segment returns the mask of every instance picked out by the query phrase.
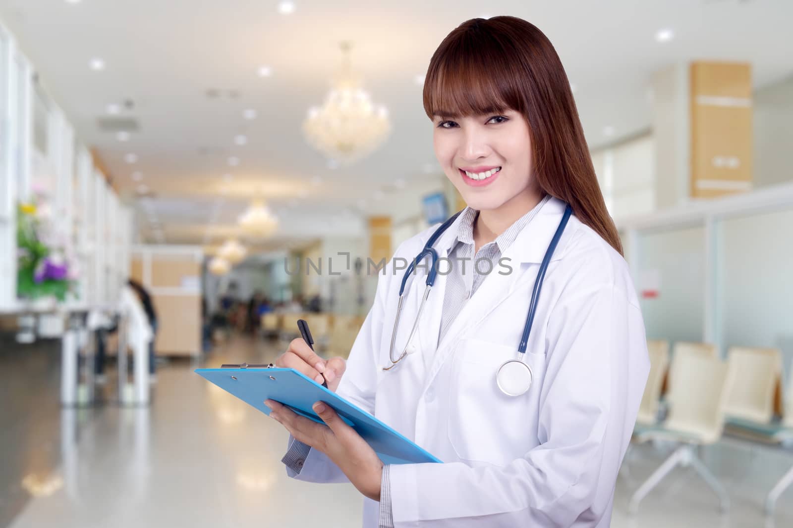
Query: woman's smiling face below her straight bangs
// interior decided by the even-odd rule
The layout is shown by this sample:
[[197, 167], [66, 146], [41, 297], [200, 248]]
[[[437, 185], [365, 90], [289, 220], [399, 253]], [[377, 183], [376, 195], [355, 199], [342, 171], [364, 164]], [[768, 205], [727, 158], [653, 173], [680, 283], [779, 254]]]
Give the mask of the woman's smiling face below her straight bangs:
[[469, 207], [497, 209], [530, 189], [531, 138], [519, 112], [435, 116], [432, 124], [435, 157]]

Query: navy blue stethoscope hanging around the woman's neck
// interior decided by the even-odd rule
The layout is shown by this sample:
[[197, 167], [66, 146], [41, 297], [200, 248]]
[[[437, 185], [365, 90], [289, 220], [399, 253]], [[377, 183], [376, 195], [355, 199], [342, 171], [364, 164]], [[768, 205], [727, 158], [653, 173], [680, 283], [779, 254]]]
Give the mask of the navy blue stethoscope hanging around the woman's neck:
[[[412, 344], [413, 336], [419, 326], [421, 313], [424, 310], [427, 297], [429, 297], [430, 290], [435, 284], [435, 275], [438, 274], [438, 252], [436, 252], [435, 249], [432, 249], [432, 246], [435, 245], [435, 241], [437, 241], [443, 232], [448, 229], [448, 227], [452, 224], [452, 222], [454, 222], [454, 219], [457, 218], [460, 213], [462, 213], [462, 211], [455, 213], [454, 216], [446, 220], [446, 222], [443, 222], [442, 225], [437, 230], [435, 230], [435, 233], [433, 233], [429, 240], [427, 240], [427, 243], [424, 245], [421, 253], [419, 253], [416, 258], [413, 259], [404, 272], [402, 284], [399, 289], [397, 318], [394, 321], [394, 329], [391, 333], [391, 345], [389, 347], [389, 359], [391, 360], [392, 364], [390, 367], [381, 367], [383, 370], [393, 369], [393, 367], [395, 367], [397, 363], [404, 359], [406, 355], [416, 352], [416, 347]], [[526, 317], [526, 324], [523, 326], [523, 336], [520, 338], [520, 344], [518, 344], [518, 357], [516, 359], [508, 359], [508, 361], [502, 363], [496, 372], [496, 385], [501, 390], [501, 392], [507, 396], [520, 396], [531, 388], [533, 374], [531, 372], [531, 367], [529, 367], [529, 365], [523, 361], [523, 358], [526, 357], [527, 343], [529, 341], [529, 334], [531, 333], [531, 325], [534, 322], [534, 313], [537, 311], [537, 303], [540, 297], [540, 290], [542, 289], [542, 281], [545, 279], [545, 274], [546, 270], [548, 269], [550, 259], [552, 256], [554, 256], [554, 250], [559, 243], [561, 235], [565, 232], [565, 226], [567, 226], [567, 222], [570, 219], [570, 215], [572, 213], [573, 209], [568, 204], [565, 207], [565, 214], [561, 217], [561, 222], [559, 222], [559, 226], [556, 229], [554, 238], [551, 239], [548, 249], [546, 249], [545, 256], [542, 257], [542, 264], [540, 264], [540, 268], [537, 272], [537, 278], [534, 279], [534, 289], [531, 291], [531, 302], [529, 303], [529, 313]], [[399, 327], [399, 319], [402, 313], [402, 304], [404, 302], [404, 285], [408, 282], [408, 276], [410, 276], [410, 274], [413, 272], [413, 269], [416, 268], [416, 264], [421, 262], [425, 256], [430, 257], [432, 264], [430, 271], [427, 273], [427, 287], [424, 288], [424, 295], [421, 299], [421, 304], [419, 305], [419, 312], [416, 313], [416, 320], [413, 321], [413, 328], [411, 329], [410, 335], [408, 336], [408, 342], [405, 344], [402, 354], [397, 359], [394, 359], [394, 342], [397, 340], [397, 328]]]

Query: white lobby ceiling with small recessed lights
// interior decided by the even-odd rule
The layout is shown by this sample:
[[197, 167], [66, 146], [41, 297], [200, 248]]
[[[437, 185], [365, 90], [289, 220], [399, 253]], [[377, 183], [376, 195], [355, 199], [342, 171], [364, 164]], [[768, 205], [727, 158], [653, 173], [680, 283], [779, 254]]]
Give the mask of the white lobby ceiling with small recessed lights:
[[[388, 214], [408, 203], [417, 211], [417, 196], [437, 188], [442, 175], [414, 78], [443, 37], [471, 17], [510, 14], [546, 32], [575, 86], [592, 149], [650, 126], [648, 79], [661, 67], [747, 61], [756, 87], [793, 71], [787, 0], [295, 4], [294, 13], [282, 15], [273, 0], [0, 0], [0, 17], [79, 137], [98, 148], [117, 186], [133, 192], [132, 172], [144, 174], [169, 242], [220, 241], [247, 201], [262, 193], [282, 217], [279, 240], [324, 229], [354, 233], [360, 222], [343, 216], [344, 208]], [[674, 39], [657, 43], [660, 28], [671, 28]], [[301, 123], [328, 90], [340, 40], [354, 42], [352, 65], [374, 102], [389, 108], [393, 131], [369, 158], [333, 170], [306, 144]], [[105, 70], [89, 69], [93, 57], [105, 60]], [[272, 75], [259, 78], [260, 65]], [[207, 97], [208, 89], [221, 96]], [[135, 107], [125, 115], [140, 130], [119, 142], [97, 120], [106, 117], [107, 104], [127, 98]], [[243, 120], [244, 108], [259, 117]], [[607, 126], [613, 135], [604, 134]], [[243, 133], [247, 145], [236, 146], [233, 138]], [[133, 165], [124, 161], [128, 152], [138, 155]], [[239, 166], [228, 166], [232, 155]], [[232, 174], [230, 182], [224, 173]], [[316, 176], [321, 183], [312, 181]], [[407, 189], [395, 196], [397, 178]], [[374, 198], [378, 190], [384, 199]]]

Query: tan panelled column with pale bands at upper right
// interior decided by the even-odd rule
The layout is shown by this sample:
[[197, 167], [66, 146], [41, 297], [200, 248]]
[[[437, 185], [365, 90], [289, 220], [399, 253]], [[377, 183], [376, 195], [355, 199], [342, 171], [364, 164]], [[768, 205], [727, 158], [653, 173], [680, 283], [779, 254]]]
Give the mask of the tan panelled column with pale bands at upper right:
[[752, 188], [752, 73], [745, 63], [691, 63], [691, 196]]

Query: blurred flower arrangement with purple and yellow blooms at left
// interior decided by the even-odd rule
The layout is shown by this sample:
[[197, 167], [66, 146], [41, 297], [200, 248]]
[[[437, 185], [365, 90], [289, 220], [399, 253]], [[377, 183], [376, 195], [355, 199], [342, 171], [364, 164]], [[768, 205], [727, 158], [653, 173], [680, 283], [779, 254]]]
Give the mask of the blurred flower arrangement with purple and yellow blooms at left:
[[63, 302], [75, 285], [76, 266], [63, 247], [57, 247], [48, 226], [46, 206], [21, 203], [17, 207], [17, 296], [54, 297]]

